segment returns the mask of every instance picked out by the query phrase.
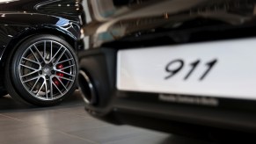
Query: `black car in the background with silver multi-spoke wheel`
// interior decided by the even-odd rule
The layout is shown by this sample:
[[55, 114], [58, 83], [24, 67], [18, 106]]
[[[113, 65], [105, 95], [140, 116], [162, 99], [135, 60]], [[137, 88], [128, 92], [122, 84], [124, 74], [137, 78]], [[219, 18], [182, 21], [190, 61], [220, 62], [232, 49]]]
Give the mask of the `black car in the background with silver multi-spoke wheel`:
[[77, 88], [80, 10], [76, 0], [0, 2], [2, 96], [50, 106]]

